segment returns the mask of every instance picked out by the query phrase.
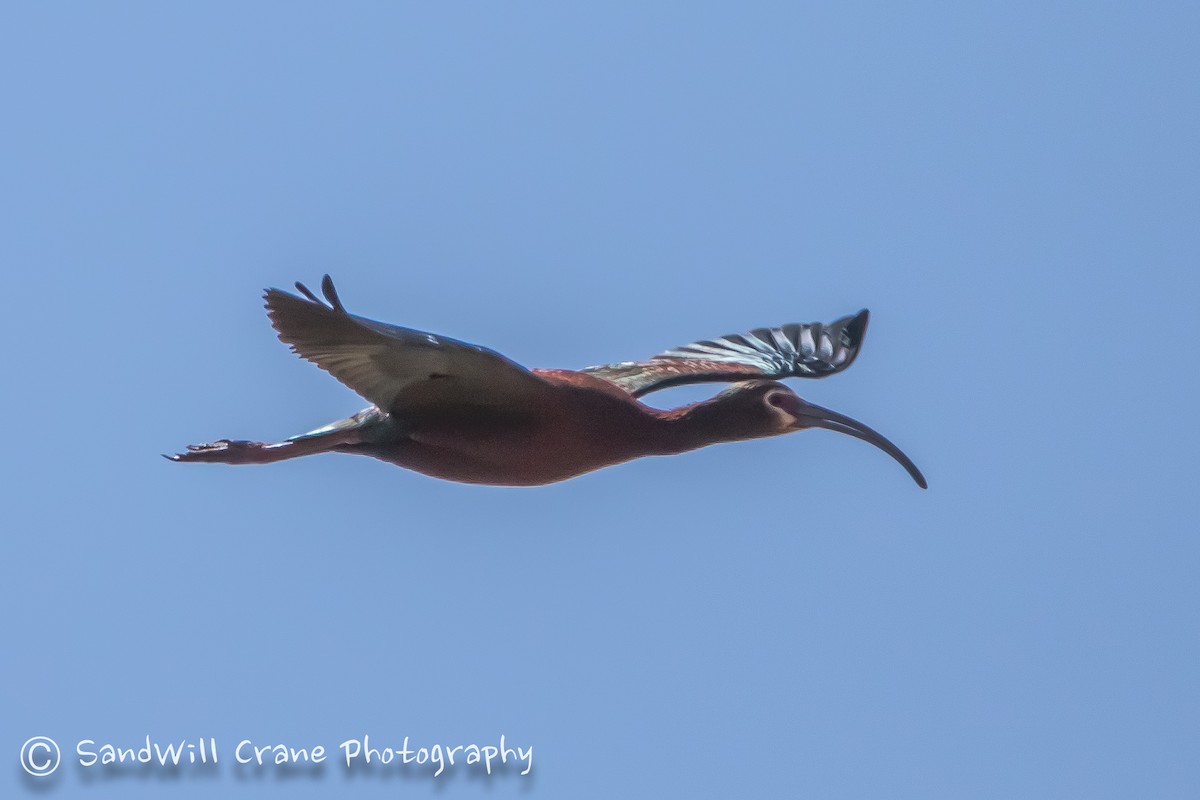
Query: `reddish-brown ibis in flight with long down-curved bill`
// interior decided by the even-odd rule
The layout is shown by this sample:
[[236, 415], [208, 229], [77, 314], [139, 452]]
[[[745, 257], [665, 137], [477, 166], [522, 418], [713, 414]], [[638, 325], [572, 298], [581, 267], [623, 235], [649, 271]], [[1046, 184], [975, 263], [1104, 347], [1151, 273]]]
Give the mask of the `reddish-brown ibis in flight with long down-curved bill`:
[[[647, 361], [527, 369], [482, 347], [350, 314], [328, 275], [324, 301], [302, 283], [295, 287], [301, 296], [278, 289], [264, 295], [280, 341], [371, 405], [284, 441], [220, 439], [167, 458], [265, 464], [344, 452], [451, 481], [540, 486], [642, 456], [826, 428], [871, 443], [926, 486], [917, 465], [883, 435], [779, 383], [848, 367], [866, 332], [865, 309], [828, 325], [696, 342]], [[703, 381], [732, 386], [671, 410], [638, 399]]]

